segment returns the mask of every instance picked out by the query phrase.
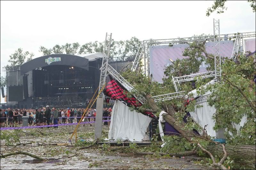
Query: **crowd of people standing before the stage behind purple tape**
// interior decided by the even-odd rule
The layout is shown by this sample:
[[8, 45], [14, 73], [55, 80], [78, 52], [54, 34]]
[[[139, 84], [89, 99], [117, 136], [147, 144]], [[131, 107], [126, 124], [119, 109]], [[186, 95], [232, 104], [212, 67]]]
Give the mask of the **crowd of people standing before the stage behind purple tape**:
[[[96, 113], [96, 108], [86, 110], [85, 108], [56, 109], [56, 107], [53, 107], [50, 109], [49, 106], [36, 109], [1, 109], [1, 127], [17, 127], [18, 125], [22, 125], [22, 116], [28, 116], [28, 126], [73, 123], [75, 119], [78, 123], [84, 114], [81, 122], [93, 122], [95, 121]], [[103, 120], [110, 120], [111, 113], [111, 107], [103, 108]], [[108, 125], [109, 127], [110, 122], [104, 122], [104, 125]], [[92, 126], [92, 124], [90, 124], [90, 126]], [[54, 127], [58, 128], [58, 126]]]

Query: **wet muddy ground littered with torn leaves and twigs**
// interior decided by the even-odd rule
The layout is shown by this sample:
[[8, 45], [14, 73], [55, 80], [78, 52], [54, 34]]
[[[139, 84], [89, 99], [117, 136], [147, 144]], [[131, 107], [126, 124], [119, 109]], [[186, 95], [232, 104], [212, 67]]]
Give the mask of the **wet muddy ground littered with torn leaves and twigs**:
[[[78, 150], [81, 146], [74, 146], [75, 137], [72, 138], [73, 146], [68, 143], [75, 127], [75, 125], [72, 125], [61, 126], [58, 129], [40, 129], [43, 134], [37, 132], [37, 128], [22, 130], [27, 134], [21, 132], [20, 142], [32, 142], [28, 145], [6, 146], [5, 140], [1, 140], [2, 154], [16, 152], [12, 150], [15, 149], [48, 159], [47, 161], [40, 161], [26, 155], [12, 155], [1, 158], [1, 169], [215, 169], [212, 166], [197, 164], [198, 159], [195, 157], [140, 156], [133, 153], [124, 153], [122, 149], [108, 152], [99, 145]], [[107, 137], [107, 134], [108, 127], [103, 127], [103, 137]], [[78, 140], [93, 141], [94, 125], [80, 125], [77, 130], [77, 137]], [[40, 146], [36, 142], [39, 142], [39, 144], [67, 143], [68, 145]], [[115, 148], [115, 146], [111, 148]]]

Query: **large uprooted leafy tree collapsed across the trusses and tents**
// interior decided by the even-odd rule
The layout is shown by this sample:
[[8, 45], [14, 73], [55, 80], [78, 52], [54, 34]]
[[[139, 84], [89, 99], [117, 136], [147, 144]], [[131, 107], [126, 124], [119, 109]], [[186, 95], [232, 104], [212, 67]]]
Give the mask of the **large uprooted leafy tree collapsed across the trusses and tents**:
[[[208, 102], [216, 108], [216, 113], [212, 117], [215, 121], [214, 130], [226, 129], [226, 144], [214, 142], [212, 137], [207, 135], [205, 127], [201, 127], [192, 117], [186, 117], [187, 123], [183, 121], [186, 112], [200, 107], [195, 106], [195, 100], [187, 103], [187, 99], [191, 99], [192, 96], [187, 96], [186, 99], [180, 98], [157, 103], [151, 98], [151, 96], [175, 92], [172, 75], [183, 76], [196, 73], [203, 61], [209, 64], [208, 71], [214, 70], [214, 55], [206, 52], [204, 44], [205, 42], [189, 43], [189, 47], [183, 52], [183, 56], [188, 57], [182, 60], [177, 59], [172, 65], [165, 68], [163, 84], [152, 81], [152, 76], [146, 76], [140, 69], [134, 72], [128, 70], [123, 73], [123, 76], [137, 90], [128, 95], [142, 95], [147, 100], [136, 109], [140, 112], [150, 111], [157, 116], [164, 110], [167, 113], [163, 115], [164, 120], [180, 133], [179, 137], [165, 140], [165, 149], [162, 148], [161, 151], [172, 152], [173, 148], [177, 149], [175, 144], [180, 145], [180, 140], [183, 138], [183, 146], [180, 147], [183, 148], [182, 151], [197, 150], [199, 155], [204, 154], [210, 157], [213, 166], [227, 169], [225, 166], [231, 165], [234, 160], [241, 159], [241, 155], [244, 159], [255, 159], [256, 109], [255, 83], [253, 81], [255, 55], [239, 54], [236, 63], [232, 59], [222, 57], [222, 76], [214, 84], [203, 86], [211, 79], [195, 78], [198, 94], [211, 92]], [[193, 90], [191, 82], [182, 83], [181, 90], [186, 92]], [[237, 132], [233, 125], [234, 123], [239, 124], [243, 116], [247, 118], [247, 121]], [[200, 135], [194, 133], [193, 129], [197, 130]], [[180, 144], [177, 143], [177, 140]], [[226, 161], [227, 158], [228, 161]]]

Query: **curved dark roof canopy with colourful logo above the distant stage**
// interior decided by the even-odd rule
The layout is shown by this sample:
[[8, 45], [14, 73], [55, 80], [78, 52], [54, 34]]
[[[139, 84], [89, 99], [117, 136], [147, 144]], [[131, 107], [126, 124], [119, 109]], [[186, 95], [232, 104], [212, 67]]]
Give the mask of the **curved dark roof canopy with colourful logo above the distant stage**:
[[[82, 57], [82, 56], [70, 55], [70, 54], [44, 55], [22, 64], [20, 66], [20, 75], [26, 74], [30, 70], [34, 70], [39, 67], [45, 67], [50, 65], [70, 65], [70, 66], [80, 67], [85, 70], [89, 70], [89, 61], [92, 60], [93, 56], [94, 55], [88, 55], [88, 56]], [[86, 57], [89, 57], [90, 60], [87, 59]], [[96, 55], [94, 56], [94, 58], [95, 57]], [[98, 57], [98, 58], [102, 58], [102, 57]]]

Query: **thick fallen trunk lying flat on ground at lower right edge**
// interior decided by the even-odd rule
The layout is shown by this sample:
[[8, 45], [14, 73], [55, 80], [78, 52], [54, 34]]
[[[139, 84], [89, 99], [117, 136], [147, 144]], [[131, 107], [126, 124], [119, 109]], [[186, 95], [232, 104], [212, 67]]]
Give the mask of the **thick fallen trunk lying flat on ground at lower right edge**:
[[[222, 147], [214, 145], [207, 148], [213, 156], [223, 156]], [[226, 145], [226, 151], [231, 159], [255, 159], [255, 145]]]

